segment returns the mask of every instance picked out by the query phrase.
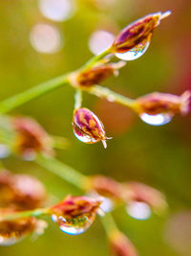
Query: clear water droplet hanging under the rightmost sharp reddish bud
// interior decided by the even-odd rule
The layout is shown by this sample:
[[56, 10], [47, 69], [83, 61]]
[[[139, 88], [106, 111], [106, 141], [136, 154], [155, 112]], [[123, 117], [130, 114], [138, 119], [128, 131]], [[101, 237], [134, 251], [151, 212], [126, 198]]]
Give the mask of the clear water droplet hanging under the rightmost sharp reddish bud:
[[172, 120], [172, 116], [169, 114], [149, 115], [147, 113], [143, 113], [139, 117], [144, 123], [151, 126], [163, 126]]

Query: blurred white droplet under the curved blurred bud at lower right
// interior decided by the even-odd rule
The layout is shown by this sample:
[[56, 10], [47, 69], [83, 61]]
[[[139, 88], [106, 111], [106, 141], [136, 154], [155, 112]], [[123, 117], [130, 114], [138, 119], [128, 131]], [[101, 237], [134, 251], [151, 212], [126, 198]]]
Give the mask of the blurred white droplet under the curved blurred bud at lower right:
[[151, 216], [151, 208], [145, 202], [132, 201], [127, 205], [126, 211], [137, 220], [147, 220]]

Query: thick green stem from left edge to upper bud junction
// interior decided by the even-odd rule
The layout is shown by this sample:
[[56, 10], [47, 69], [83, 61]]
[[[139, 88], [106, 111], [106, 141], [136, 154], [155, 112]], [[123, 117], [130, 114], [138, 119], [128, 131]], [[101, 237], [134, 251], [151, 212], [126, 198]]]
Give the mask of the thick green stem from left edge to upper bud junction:
[[63, 75], [53, 80], [45, 81], [25, 92], [14, 95], [0, 103], [0, 113], [7, 113], [14, 107], [28, 103], [66, 83], [68, 83], [68, 75]]

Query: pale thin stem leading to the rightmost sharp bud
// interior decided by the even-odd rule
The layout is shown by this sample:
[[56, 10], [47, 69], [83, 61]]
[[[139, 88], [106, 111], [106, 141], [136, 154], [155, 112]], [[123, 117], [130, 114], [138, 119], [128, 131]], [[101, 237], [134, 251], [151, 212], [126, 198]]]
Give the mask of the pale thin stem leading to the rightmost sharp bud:
[[125, 105], [130, 108], [135, 108], [134, 100], [126, 96], [120, 95], [117, 92], [114, 92], [106, 87], [95, 85], [90, 88], [82, 88], [82, 89], [91, 94], [96, 95], [99, 98], [104, 98], [109, 102]]

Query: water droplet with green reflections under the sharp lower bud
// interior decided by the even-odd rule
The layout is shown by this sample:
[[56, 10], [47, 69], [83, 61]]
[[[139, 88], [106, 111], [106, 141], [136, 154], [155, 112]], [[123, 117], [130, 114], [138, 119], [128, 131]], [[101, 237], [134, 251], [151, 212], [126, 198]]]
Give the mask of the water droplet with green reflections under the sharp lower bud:
[[85, 232], [95, 221], [96, 213], [86, 214], [73, 219], [52, 215], [53, 222], [57, 222], [59, 228], [66, 234], [79, 235]]

